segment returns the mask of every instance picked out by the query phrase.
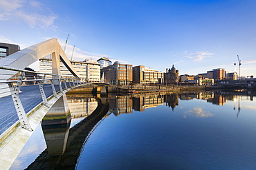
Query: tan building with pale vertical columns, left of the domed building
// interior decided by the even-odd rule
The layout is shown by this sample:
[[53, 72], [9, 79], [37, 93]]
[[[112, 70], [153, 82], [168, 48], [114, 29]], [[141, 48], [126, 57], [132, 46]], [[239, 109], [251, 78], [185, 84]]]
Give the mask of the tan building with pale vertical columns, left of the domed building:
[[158, 72], [152, 68], [146, 68], [144, 65], [138, 65], [132, 68], [133, 83], [162, 83], [163, 72]]

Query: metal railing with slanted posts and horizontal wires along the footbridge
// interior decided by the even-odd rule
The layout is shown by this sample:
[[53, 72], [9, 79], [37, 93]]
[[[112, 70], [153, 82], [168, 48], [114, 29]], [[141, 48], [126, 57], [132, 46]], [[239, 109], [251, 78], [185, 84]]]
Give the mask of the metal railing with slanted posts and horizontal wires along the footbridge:
[[[5, 71], [11, 71], [6, 73]], [[15, 74], [16, 73], [16, 74]], [[32, 130], [27, 114], [37, 105], [48, 106], [48, 98], [64, 90], [88, 83], [86, 78], [47, 74], [0, 66], [0, 74], [9, 76], [0, 80], [0, 136], [12, 125]], [[15, 74], [15, 76], [13, 76]]]

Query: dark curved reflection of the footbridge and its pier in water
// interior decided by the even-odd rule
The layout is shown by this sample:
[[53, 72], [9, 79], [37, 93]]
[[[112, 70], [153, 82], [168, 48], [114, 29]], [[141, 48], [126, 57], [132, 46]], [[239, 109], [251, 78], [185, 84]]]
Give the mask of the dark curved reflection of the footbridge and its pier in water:
[[[60, 126], [53, 127], [51, 125], [43, 125], [43, 121], [42, 127], [47, 149], [43, 151], [27, 169], [75, 169], [77, 159], [84, 146], [84, 141], [89, 138], [93, 127], [98, 125], [100, 120], [102, 120], [109, 111], [109, 103], [106, 100], [101, 100], [100, 98], [96, 98], [96, 100], [98, 101], [98, 107], [95, 111], [69, 129], [69, 131], [69, 124], [60, 128]], [[60, 132], [61, 129], [62, 132]], [[63, 136], [62, 141], [59, 139], [56, 143], [55, 136], [56, 134], [60, 136], [60, 133], [62, 133]], [[64, 138], [66, 134], [68, 134], [67, 139]], [[62, 147], [57, 147], [58, 145], [60, 146], [60, 144], [62, 144]]]

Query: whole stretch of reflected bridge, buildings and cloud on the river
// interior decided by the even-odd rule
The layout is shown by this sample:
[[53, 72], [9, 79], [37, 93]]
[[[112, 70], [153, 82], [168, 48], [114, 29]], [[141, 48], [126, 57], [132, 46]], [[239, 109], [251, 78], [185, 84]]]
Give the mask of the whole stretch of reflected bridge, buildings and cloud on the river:
[[[205, 100], [212, 105], [223, 106], [232, 102], [230, 109], [237, 110], [237, 117], [242, 109], [241, 100], [253, 100], [251, 95], [242, 95], [235, 92], [191, 92], [185, 94], [168, 94], [166, 92], [129, 94], [124, 96], [109, 95], [108, 98], [93, 98], [92, 96], [67, 96], [68, 106], [73, 120], [79, 123], [70, 127], [70, 122], [55, 126], [44, 125], [44, 138], [47, 149], [30, 164], [28, 169], [75, 169], [77, 159], [82, 153], [84, 144], [91, 132], [109, 114], [115, 116], [131, 114], [133, 111], [145, 111], [147, 108], [166, 105], [174, 111], [177, 107], [183, 108], [181, 101]], [[181, 105], [181, 106], [179, 106]], [[244, 105], [244, 108], [254, 109], [256, 107]], [[214, 116], [210, 110], [203, 106], [193, 105], [182, 112], [183, 120], [188, 117], [210, 118]], [[43, 165], [42, 165], [43, 164]]]

